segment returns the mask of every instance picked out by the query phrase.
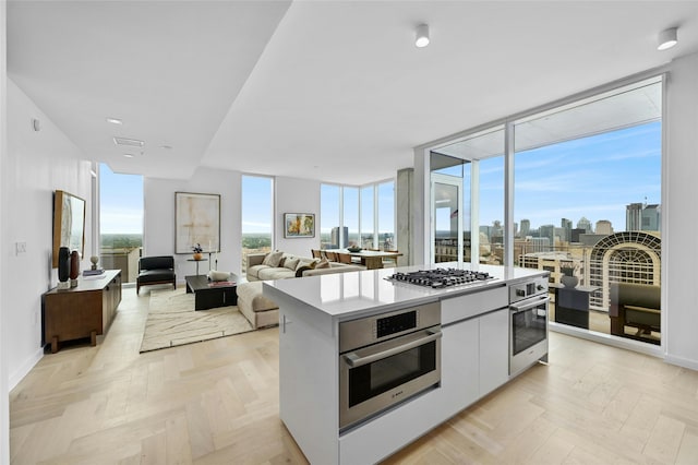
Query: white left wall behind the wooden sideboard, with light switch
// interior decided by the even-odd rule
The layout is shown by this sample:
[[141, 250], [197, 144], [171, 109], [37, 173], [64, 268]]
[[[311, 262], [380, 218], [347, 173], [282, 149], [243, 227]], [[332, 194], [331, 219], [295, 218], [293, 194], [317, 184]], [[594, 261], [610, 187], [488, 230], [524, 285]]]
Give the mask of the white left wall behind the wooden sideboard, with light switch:
[[[32, 128], [40, 120], [41, 130]], [[12, 389], [43, 356], [41, 294], [55, 287], [51, 269], [53, 191], [86, 201], [85, 255], [92, 250], [92, 176], [80, 150], [8, 79], [8, 157], [2, 166], [2, 312]], [[26, 253], [15, 253], [26, 242]], [[81, 270], [88, 260], [83, 260]]]

